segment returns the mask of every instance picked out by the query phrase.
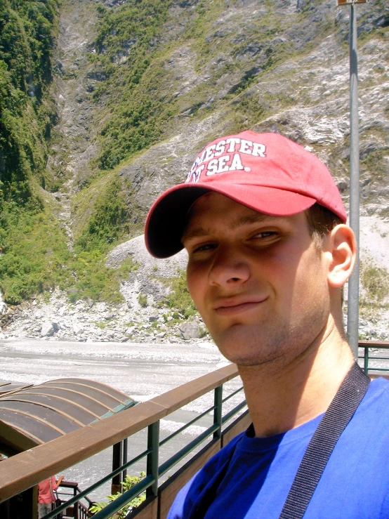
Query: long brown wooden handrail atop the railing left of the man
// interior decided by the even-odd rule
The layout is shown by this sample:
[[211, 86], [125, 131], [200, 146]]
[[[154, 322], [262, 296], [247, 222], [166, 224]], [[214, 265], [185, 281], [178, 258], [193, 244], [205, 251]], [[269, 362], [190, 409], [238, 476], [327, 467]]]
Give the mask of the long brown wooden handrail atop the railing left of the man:
[[111, 447], [237, 376], [235, 364], [0, 463], [0, 501]]

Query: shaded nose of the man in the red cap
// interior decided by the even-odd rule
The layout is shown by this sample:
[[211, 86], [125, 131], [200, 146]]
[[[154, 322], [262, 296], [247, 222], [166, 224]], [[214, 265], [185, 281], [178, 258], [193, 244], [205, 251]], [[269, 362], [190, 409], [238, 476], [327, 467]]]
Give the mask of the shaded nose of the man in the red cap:
[[249, 265], [242, 256], [235, 254], [228, 247], [218, 248], [209, 272], [211, 285], [232, 288], [235, 284], [248, 280], [249, 275]]

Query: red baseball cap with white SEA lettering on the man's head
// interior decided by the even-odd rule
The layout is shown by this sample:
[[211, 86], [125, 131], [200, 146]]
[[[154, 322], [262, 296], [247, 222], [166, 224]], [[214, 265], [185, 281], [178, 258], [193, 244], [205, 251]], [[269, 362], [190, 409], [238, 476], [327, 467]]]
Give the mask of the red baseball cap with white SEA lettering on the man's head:
[[213, 140], [185, 182], [154, 202], [145, 224], [152, 256], [168, 258], [183, 249], [187, 211], [209, 191], [269, 215], [291, 216], [317, 202], [347, 219], [334, 179], [315, 155], [278, 133], [242, 131]]

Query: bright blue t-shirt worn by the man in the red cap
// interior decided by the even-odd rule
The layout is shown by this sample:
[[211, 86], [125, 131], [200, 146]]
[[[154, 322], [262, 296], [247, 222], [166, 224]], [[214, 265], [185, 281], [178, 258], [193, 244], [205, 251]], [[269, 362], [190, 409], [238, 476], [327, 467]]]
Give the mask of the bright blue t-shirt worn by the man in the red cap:
[[[283, 434], [249, 431], [178, 493], [168, 519], [278, 519], [321, 416]], [[389, 518], [389, 382], [376, 379], [339, 438], [304, 519]]]

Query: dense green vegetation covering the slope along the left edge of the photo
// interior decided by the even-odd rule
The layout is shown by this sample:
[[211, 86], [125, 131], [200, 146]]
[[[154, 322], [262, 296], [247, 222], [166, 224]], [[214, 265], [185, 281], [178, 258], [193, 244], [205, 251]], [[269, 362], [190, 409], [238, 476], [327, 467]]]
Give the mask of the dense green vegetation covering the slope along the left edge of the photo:
[[[105, 265], [109, 244], [127, 230], [117, 183], [98, 197], [73, 254], [39, 188], [46, 171], [55, 105], [51, 55], [58, 0], [0, 0], [0, 289], [18, 304], [55, 286], [70, 299], [120, 301], [119, 282], [135, 265]], [[119, 232], [121, 230], [121, 232]]]

